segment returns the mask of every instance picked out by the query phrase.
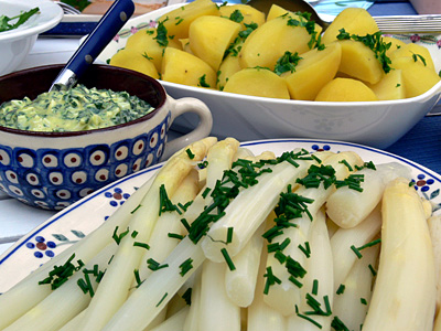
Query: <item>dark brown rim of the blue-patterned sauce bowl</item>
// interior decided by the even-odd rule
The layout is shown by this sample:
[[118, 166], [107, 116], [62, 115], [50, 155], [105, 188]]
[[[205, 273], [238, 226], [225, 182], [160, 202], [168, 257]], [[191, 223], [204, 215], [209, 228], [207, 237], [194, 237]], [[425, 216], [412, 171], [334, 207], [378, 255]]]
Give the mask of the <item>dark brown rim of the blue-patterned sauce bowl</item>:
[[[42, 138], [67, 138], [67, 137], [78, 137], [78, 136], [100, 134], [100, 132], [105, 132], [105, 131], [115, 131], [115, 130], [118, 130], [121, 128], [130, 127], [132, 125], [137, 125], [139, 122], [149, 120], [150, 118], [152, 118], [160, 111], [160, 108], [162, 108], [165, 105], [168, 95], [165, 93], [164, 87], [157, 79], [154, 79], [148, 75], [144, 75], [142, 73], [122, 68], [122, 67], [109, 66], [109, 65], [103, 65], [103, 64], [92, 64], [92, 66], [94, 66], [100, 71], [101, 70], [104, 70], [104, 71], [110, 70], [110, 71], [116, 71], [116, 72], [121, 72], [121, 73], [126, 73], [127, 75], [135, 75], [142, 79], [149, 81], [157, 88], [157, 90], [160, 94], [160, 104], [152, 111], [150, 111], [149, 114], [146, 114], [144, 116], [141, 116], [137, 119], [133, 119], [128, 122], [119, 124], [116, 126], [99, 128], [99, 129], [82, 130], [82, 131], [47, 132], [47, 131], [21, 130], [21, 129], [14, 129], [14, 128], [0, 126], [0, 132], [19, 135], [19, 136], [29, 136], [29, 137], [42, 137]], [[64, 67], [64, 64], [50, 64], [50, 65], [42, 65], [42, 66], [25, 68], [22, 71], [18, 71], [18, 72], [13, 72], [13, 73], [0, 76], [0, 81], [8, 79], [11, 77], [13, 78], [14, 76], [18, 76], [18, 77], [23, 76], [24, 77], [28, 73], [31, 73], [31, 72], [41, 72], [41, 71], [47, 71], [47, 70], [53, 70], [53, 68], [60, 68], [60, 71], [61, 71], [63, 67]], [[1, 104], [0, 104], [0, 106], [1, 106]]]

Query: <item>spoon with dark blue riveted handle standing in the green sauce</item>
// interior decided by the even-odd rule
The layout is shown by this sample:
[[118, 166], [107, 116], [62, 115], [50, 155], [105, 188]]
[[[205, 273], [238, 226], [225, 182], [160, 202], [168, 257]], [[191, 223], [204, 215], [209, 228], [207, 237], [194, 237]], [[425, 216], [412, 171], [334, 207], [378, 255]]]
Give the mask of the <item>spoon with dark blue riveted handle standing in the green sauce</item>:
[[135, 12], [132, 0], [116, 0], [52, 83], [50, 90], [73, 87]]

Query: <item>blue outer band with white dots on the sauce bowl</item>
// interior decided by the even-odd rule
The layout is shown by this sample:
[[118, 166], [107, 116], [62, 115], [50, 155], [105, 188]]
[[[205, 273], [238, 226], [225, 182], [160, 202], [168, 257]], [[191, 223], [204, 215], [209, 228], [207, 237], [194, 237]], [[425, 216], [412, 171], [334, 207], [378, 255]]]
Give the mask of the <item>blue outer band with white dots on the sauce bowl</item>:
[[171, 115], [153, 130], [111, 145], [56, 149], [1, 145], [0, 190], [20, 201], [63, 209], [95, 190], [159, 162]]

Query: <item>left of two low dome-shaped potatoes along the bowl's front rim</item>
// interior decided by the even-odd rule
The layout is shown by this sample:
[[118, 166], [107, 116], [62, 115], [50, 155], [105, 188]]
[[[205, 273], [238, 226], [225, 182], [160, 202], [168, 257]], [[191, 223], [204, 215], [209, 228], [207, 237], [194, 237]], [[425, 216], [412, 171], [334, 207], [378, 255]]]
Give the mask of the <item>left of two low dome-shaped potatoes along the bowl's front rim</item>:
[[225, 92], [289, 99], [287, 83], [266, 68], [245, 68], [229, 77]]

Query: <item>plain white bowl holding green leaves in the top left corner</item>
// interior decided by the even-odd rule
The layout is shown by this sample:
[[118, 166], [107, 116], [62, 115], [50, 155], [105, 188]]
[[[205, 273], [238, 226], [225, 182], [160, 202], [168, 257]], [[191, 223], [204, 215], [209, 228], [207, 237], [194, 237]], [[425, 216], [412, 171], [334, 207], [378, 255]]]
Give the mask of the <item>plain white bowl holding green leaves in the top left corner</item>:
[[60, 6], [49, 0], [0, 0], [0, 15], [14, 17], [35, 7], [40, 13], [11, 31], [0, 32], [0, 76], [13, 72], [31, 51], [37, 35], [63, 18]]

